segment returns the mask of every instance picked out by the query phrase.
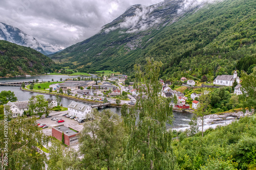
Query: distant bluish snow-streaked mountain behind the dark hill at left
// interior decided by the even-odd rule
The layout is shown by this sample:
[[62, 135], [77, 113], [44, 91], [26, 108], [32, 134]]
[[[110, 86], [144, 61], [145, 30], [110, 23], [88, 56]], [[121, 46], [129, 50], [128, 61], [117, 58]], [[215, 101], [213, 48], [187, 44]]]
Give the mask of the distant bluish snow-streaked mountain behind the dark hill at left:
[[3, 22], [0, 22], [0, 40], [6, 40], [18, 45], [29, 46], [44, 55], [53, 54], [62, 50], [61, 48], [50, 44], [41, 44], [34, 37]]

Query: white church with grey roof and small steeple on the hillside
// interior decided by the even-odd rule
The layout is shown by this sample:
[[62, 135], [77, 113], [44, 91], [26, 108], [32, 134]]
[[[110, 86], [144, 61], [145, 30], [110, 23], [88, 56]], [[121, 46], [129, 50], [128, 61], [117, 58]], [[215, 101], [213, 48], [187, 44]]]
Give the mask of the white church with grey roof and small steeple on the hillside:
[[237, 81], [238, 84], [240, 83], [240, 78], [238, 77], [237, 70], [234, 71], [233, 76], [232, 75], [217, 76], [217, 78], [214, 80], [214, 84], [222, 85], [222, 86], [232, 86], [234, 81]]

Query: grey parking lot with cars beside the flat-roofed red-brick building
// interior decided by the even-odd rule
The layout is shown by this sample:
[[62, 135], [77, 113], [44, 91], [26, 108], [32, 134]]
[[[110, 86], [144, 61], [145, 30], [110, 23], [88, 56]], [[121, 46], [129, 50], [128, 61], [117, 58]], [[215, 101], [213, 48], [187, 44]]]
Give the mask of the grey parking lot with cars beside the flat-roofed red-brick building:
[[[65, 125], [67, 127], [71, 127], [78, 131], [82, 130], [84, 123], [79, 124], [74, 119], [70, 119], [68, 117], [62, 116], [62, 114], [64, 114], [64, 113], [63, 112], [59, 113], [59, 114], [53, 113], [53, 114], [50, 114], [50, 115], [52, 115], [52, 117], [38, 119], [36, 122], [38, 122], [40, 124], [46, 124], [48, 126], [48, 128], [42, 129], [42, 132], [44, 132], [48, 136], [52, 135], [52, 127], [58, 126], [58, 125]], [[51, 120], [51, 118], [53, 118], [53, 117], [56, 117], [58, 119], [61, 118], [61, 119], [65, 120], [65, 122], [57, 123], [56, 120]]]

